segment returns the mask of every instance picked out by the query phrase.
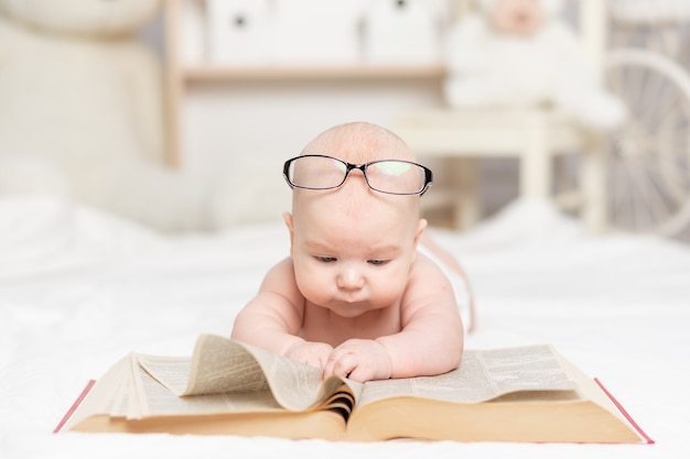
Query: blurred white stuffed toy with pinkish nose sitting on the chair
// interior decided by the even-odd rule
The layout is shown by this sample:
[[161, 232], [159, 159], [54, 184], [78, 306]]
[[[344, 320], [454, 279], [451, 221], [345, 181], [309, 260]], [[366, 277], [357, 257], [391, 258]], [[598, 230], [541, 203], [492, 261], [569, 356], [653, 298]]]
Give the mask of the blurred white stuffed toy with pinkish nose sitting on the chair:
[[551, 105], [589, 128], [611, 130], [623, 103], [603, 86], [562, 0], [478, 0], [446, 36], [451, 107]]

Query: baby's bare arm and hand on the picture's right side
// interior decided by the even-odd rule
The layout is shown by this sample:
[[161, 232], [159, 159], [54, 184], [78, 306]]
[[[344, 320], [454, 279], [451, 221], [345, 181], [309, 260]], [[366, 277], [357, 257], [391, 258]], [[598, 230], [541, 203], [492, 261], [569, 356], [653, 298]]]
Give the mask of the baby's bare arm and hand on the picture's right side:
[[457, 368], [463, 325], [450, 282], [418, 254], [401, 304], [402, 330], [376, 340], [347, 340], [335, 348], [324, 375], [366, 381], [444, 373]]

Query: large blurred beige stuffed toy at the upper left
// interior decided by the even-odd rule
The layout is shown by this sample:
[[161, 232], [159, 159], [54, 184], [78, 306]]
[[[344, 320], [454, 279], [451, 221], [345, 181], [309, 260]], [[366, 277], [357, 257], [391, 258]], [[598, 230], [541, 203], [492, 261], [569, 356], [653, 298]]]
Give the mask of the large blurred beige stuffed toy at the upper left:
[[228, 221], [222, 186], [163, 161], [161, 65], [138, 40], [160, 8], [0, 0], [0, 193], [69, 196], [166, 231]]

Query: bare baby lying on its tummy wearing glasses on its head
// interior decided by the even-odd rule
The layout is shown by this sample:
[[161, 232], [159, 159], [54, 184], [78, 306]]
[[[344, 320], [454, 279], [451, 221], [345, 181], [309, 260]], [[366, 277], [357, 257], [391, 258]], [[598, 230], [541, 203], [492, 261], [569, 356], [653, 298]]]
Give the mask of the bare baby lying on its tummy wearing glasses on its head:
[[[418, 250], [427, 227], [419, 200], [431, 171], [413, 161], [397, 135], [364, 122], [323, 132], [288, 161], [290, 256], [268, 272], [231, 337], [317, 367], [324, 378], [456, 368], [463, 323], [440, 267], [444, 254]], [[452, 269], [464, 278], [456, 263]]]

